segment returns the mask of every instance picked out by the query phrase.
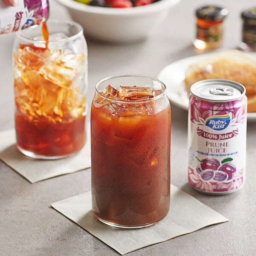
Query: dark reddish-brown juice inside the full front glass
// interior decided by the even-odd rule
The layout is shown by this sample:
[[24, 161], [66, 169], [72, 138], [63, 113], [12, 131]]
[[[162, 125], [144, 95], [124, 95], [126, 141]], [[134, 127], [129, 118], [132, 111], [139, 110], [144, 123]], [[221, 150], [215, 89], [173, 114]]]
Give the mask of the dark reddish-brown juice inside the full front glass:
[[142, 226], [166, 216], [170, 129], [169, 105], [157, 114], [135, 117], [113, 116], [107, 105], [92, 104], [92, 204], [98, 218]]

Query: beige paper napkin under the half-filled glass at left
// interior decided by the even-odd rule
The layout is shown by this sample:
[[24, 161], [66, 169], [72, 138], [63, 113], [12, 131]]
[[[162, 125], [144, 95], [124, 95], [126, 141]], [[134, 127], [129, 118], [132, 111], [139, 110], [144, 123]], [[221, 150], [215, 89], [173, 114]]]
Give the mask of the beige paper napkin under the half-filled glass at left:
[[58, 160], [36, 160], [21, 154], [15, 146], [14, 129], [0, 132], [0, 142], [0, 159], [31, 183], [91, 166], [90, 127], [87, 129], [86, 144], [81, 151], [72, 157]]

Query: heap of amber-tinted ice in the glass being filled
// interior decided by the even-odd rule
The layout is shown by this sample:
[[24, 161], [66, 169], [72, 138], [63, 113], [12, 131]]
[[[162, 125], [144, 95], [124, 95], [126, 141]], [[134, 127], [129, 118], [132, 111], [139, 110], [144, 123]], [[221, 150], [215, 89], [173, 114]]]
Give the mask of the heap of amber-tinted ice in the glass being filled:
[[50, 54], [49, 50], [23, 46], [15, 53], [15, 102], [29, 119], [63, 122], [84, 112], [84, 91], [80, 92], [84, 54], [64, 52]]

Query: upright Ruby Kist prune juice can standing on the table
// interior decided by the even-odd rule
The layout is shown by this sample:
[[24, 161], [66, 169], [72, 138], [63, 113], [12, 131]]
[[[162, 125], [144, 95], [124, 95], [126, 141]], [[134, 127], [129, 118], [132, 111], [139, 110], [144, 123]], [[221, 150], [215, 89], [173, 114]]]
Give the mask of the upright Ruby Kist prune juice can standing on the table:
[[244, 185], [247, 97], [245, 87], [226, 79], [191, 87], [188, 116], [188, 183], [223, 195]]

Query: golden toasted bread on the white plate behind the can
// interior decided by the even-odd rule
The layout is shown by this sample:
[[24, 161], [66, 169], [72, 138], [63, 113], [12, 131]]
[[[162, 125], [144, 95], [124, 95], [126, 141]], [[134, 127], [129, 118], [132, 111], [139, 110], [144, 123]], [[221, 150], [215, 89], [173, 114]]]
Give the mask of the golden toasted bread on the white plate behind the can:
[[247, 112], [256, 112], [256, 57], [234, 49], [191, 64], [185, 72], [186, 90], [204, 79], [229, 79], [243, 84], [248, 98]]

